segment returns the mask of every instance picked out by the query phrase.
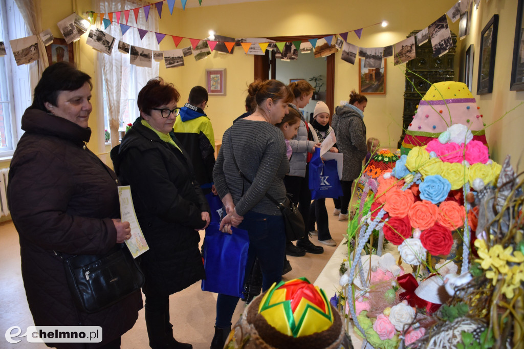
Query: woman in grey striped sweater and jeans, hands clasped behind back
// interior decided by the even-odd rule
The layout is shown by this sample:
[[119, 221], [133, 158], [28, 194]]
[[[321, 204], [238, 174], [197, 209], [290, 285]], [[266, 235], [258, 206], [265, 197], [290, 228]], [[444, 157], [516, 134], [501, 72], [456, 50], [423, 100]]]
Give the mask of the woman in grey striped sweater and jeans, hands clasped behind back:
[[[256, 111], [239, 119], [224, 133], [213, 180], [227, 213], [220, 228], [228, 233], [232, 225], [247, 230], [246, 270], [251, 270], [257, 257], [263, 276], [262, 289], [266, 291], [281, 279], [286, 242], [280, 209], [265, 196], [268, 193], [278, 202], [286, 198], [283, 183], [289, 169], [286, 143], [274, 125], [288, 113], [288, 103], [293, 96], [285, 84], [276, 80], [255, 81], [249, 85], [248, 93], [256, 101]], [[233, 156], [238, 168], [252, 183], [238, 173]], [[238, 299], [219, 294], [211, 349], [224, 346]]]

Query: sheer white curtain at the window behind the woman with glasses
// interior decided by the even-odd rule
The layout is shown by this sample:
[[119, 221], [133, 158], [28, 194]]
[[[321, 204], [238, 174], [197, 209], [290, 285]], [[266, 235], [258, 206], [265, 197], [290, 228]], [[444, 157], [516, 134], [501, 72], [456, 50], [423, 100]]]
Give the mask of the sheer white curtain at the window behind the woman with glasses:
[[[118, 12], [122, 10], [130, 10], [139, 6], [149, 5], [150, 3], [142, 0], [95, 0], [95, 11], [105, 13]], [[122, 40], [130, 45], [147, 48], [150, 50], [158, 50], [158, 43], [155, 38], [155, 31], [158, 31], [158, 23], [156, 16], [156, 9], [151, 8], [149, 18], [146, 21], [144, 11], [140, 10], [138, 15], [138, 23], [135, 23], [135, 14], [133, 11], [129, 13], [128, 25], [140, 29], [152, 31], [148, 33], [144, 39], [140, 40], [138, 30], [129, 28], [124, 37], [122, 37], [122, 30], [119, 25], [112, 23], [105, 32], [115, 37], [116, 40]], [[116, 20], [116, 16], [113, 16]], [[125, 24], [125, 17], [122, 14], [120, 22]], [[152, 62], [152, 68], [132, 67], [129, 64], [129, 54], [121, 53], [117, 49], [118, 41], [115, 40], [115, 46], [111, 56], [97, 52], [99, 61], [99, 69], [103, 72], [105, 80], [105, 94], [107, 99], [107, 110], [109, 113], [109, 126], [111, 132], [111, 147], [118, 145], [118, 127], [122, 123], [122, 116], [129, 112], [128, 95], [129, 83], [135, 83], [136, 94], [146, 84], [149, 79], [158, 76], [159, 63]], [[135, 74], [135, 79], [132, 79], [132, 74]], [[100, 84], [102, 86], [102, 84]], [[135, 96], [136, 99], [136, 96]], [[135, 115], [138, 117], [138, 115]]]

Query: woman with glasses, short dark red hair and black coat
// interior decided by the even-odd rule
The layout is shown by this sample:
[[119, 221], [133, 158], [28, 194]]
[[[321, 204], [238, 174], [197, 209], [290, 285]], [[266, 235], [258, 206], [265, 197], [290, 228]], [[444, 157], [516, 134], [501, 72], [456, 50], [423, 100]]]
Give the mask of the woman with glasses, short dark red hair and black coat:
[[179, 92], [161, 78], [138, 94], [140, 116], [111, 151], [115, 172], [130, 186], [149, 250], [141, 256], [146, 276], [146, 326], [151, 348], [192, 348], [173, 337], [169, 295], [205, 276], [199, 230], [210, 209], [187, 154], [173, 133]]

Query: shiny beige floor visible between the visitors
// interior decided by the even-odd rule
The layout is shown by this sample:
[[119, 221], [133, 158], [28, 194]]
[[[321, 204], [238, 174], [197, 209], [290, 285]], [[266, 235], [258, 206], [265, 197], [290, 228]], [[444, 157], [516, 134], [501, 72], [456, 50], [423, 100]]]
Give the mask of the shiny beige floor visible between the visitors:
[[[329, 214], [329, 225], [333, 239], [339, 244], [346, 234], [347, 221], [340, 222], [332, 215], [333, 201], [326, 200]], [[203, 235], [203, 232], [201, 232]], [[313, 243], [316, 236], [312, 238]], [[317, 245], [320, 245], [316, 242]], [[318, 277], [325, 264], [333, 254], [336, 246], [325, 246], [321, 255], [306, 254], [304, 257], [288, 256], [293, 268], [283, 279], [290, 280], [306, 277], [311, 282]], [[170, 297], [171, 323], [174, 325], [174, 336], [178, 341], [191, 343], [195, 349], [207, 349], [214, 333], [216, 294], [204, 292], [200, 282], [175, 293]], [[238, 302], [233, 323], [238, 320], [244, 309], [244, 303]], [[0, 348], [39, 349], [43, 344], [30, 344], [25, 339], [17, 344], [5, 340], [5, 332], [11, 326], [19, 326], [25, 332], [27, 326], [34, 325], [27, 306], [24, 285], [20, 275], [20, 248], [18, 235], [12, 222], [0, 223]], [[23, 332], [23, 333], [24, 333]], [[122, 337], [122, 348], [148, 348], [144, 309], [140, 310], [134, 328]]]

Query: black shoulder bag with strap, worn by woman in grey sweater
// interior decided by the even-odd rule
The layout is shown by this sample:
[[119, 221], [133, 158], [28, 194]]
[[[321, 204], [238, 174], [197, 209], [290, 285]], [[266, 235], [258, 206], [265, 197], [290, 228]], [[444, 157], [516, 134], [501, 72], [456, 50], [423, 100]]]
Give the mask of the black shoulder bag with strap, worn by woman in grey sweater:
[[[238, 167], [238, 163], [236, 163], [235, 151], [233, 150], [233, 141], [231, 140], [231, 131], [232, 130], [230, 128], [229, 143], [231, 147], [231, 156], [233, 157], [233, 162], [235, 163], [238, 173], [240, 173], [241, 176], [244, 177], [245, 180], [249, 182], [249, 184], [251, 184], [253, 182], [246, 177], [246, 175]], [[299, 210], [297, 210], [297, 206], [291, 200], [289, 200], [287, 195], [286, 195], [286, 200], [284, 202], [278, 202], [275, 198], [273, 198], [267, 192], [266, 192], [266, 198], [274, 202], [277, 205], [277, 207], [280, 209], [280, 211], [282, 212], [282, 216], [284, 218], [284, 223], [286, 226], [287, 238], [290, 241], [295, 241], [295, 240], [298, 240], [304, 237], [305, 224], [304, 224], [304, 219], [302, 218], [302, 214], [300, 213]]]

